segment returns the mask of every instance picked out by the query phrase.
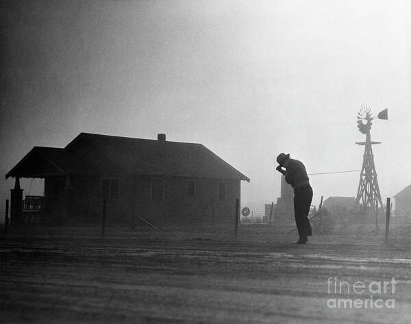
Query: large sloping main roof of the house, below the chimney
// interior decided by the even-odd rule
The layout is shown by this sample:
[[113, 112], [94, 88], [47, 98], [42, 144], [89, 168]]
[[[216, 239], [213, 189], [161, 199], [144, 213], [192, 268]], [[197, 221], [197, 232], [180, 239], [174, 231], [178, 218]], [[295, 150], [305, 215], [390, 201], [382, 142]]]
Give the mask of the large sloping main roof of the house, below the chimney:
[[[80, 149], [84, 145], [87, 149]], [[40, 153], [64, 173], [105, 173], [114, 170], [139, 175], [241, 179], [249, 182], [249, 178], [240, 171], [196, 143], [81, 133], [64, 149], [41, 149], [51, 149], [47, 152], [40, 150]], [[19, 164], [6, 177], [20, 176]]]

